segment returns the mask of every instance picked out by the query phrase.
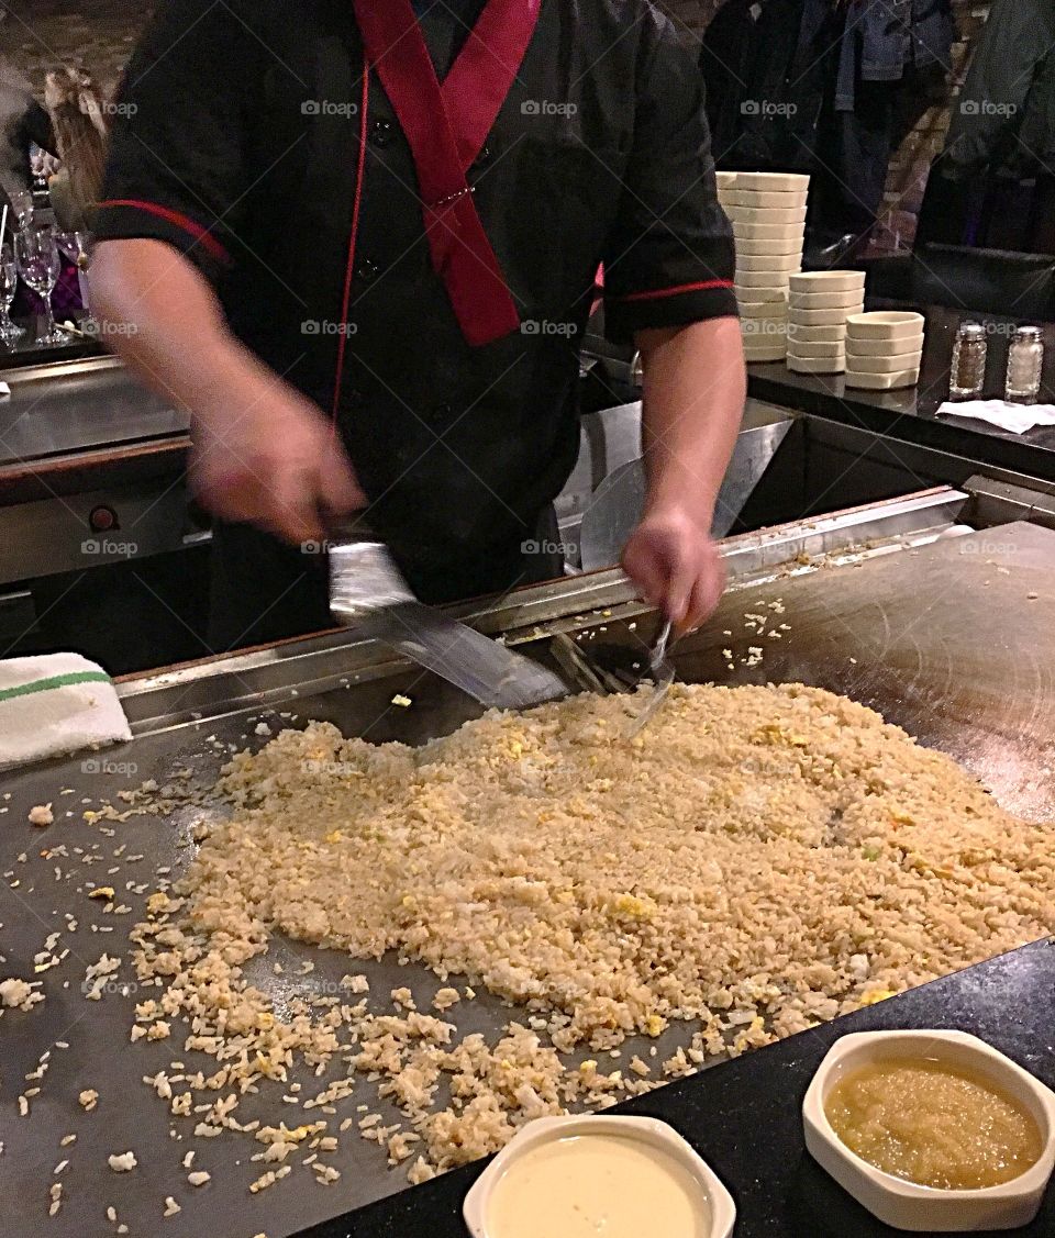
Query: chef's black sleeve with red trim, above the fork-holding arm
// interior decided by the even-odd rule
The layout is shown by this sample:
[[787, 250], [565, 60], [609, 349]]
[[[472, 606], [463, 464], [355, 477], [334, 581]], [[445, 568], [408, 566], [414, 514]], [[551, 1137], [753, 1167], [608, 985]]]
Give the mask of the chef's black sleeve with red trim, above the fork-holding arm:
[[606, 329], [617, 342], [737, 313], [700, 71], [661, 19], [643, 48], [633, 150], [604, 256]]

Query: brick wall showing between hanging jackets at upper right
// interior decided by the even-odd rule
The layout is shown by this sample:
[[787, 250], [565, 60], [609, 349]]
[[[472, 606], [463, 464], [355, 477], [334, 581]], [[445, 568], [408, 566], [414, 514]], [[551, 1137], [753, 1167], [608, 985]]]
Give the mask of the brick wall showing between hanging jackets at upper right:
[[[687, 41], [698, 41], [722, 0], [658, 0]], [[952, 46], [951, 74], [944, 90], [930, 104], [919, 100], [918, 116], [908, 136], [890, 160], [884, 206], [873, 248], [908, 249], [915, 236], [916, 213], [923, 201], [926, 175], [949, 129], [950, 106], [966, 73], [971, 46], [986, 22], [988, 0], [952, 0], [957, 41]]]

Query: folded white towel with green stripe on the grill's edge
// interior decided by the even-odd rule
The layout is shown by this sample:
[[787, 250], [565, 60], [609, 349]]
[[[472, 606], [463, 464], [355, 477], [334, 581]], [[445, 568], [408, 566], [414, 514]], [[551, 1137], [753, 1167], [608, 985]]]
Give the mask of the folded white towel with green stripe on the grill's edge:
[[79, 654], [0, 661], [0, 770], [131, 739], [110, 676]]

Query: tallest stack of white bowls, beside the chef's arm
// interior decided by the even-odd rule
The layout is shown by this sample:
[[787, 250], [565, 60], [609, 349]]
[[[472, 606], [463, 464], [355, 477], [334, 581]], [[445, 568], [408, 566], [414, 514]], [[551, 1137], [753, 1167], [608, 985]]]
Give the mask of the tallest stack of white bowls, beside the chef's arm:
[[718, 201], [737, 243], [736, 291], [744, 355], [780, 361], [788, 352], [788, 281], [802, 269], [809, 176], [718, 172]]

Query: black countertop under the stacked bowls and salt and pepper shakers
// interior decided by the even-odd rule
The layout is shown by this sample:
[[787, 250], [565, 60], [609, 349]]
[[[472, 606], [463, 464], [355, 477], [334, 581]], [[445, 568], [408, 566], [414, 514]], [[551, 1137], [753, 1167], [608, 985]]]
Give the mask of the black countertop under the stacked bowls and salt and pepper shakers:
[[[905, 308], [894, 302], [869, 302], [869, 308]], [[748, 366], [748, 391], [759, 400], [862, 426], [875, 433], [934, 447], [981, 463], [1055, 482], [1055, 426], [1038, 426], [1012, 435], [984, 421], [937, 417], [949, 399], [949, 369], [956, 328], [971, 318], [988, 327], [989, 353], [983, 399], [1003, 399], [1003, 376], [1012, 328], [1017, 319], [993, 314], [913, 306], [926, 317], [926, 337], [918, 386], [900, 391], [847, 389], [843, 375], [795, 374], [783, 361]], [[1045, 358], [1040, 401], [1055, 404], [1055, 326], [1044, 327]]]

